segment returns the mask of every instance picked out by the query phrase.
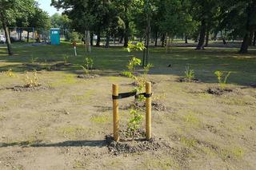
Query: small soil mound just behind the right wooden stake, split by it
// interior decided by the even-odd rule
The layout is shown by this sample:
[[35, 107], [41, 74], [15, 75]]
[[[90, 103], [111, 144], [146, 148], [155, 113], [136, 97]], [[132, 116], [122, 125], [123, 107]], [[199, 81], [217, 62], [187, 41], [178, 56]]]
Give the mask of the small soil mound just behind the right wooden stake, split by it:
[[[152, 101], [151, 106], [152, 106], [152, 109], [155, 111], [166, 111], [167, 110], [166, 105], [162, 104], [161, 101]], [[136, 101], [136, 102], [132, 102], [129, 105], [126, 105], [123, 109], [133, 109], [133, 108], [145, 110], [146, 104], [145, 104], [145, 102]]]

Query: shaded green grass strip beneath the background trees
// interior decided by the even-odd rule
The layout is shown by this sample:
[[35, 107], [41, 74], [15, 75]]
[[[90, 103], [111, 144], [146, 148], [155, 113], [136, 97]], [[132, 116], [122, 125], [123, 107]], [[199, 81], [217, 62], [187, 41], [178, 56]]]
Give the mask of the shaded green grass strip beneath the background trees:
[[[0, 49], [0, 71], [13, 69], [14, 72], [23, 72], [27, 69], [24, 63], [30, 63], [32, 57], [35, 62], [42, 65], [41, 69], [54, 62], [64, 61], [63, 57], [69, 56], [71, 67], [66, 72], [74, 73], [80, 69], [84, 57], [94, 58], [94, 65], [97, 69], [113, 70], [120, 72], [126, 69], [126, 63], [131, 55], [142, 58], [142, 53], [127, 53], [122, 47], [92, 48], [92, 53], [86, 54], [82, 45], [78, 46], [78, 56], [74, 57], [74, 50], [71, 45], [14, 45], [14, 56], [6, 55], [6, 49]], [[49, 62], [50, 61], [50, 62]], [[256, 51], [250, 54], [239, 54], [238, 49], [216, 49], [208, 48], [203, 51], [196, 51], [193, 48], [173, 47], [170, 53], [165, 53], [163, 48], [150, 49], [150, 63], [154, 65], [151, 74], [173, 74], [184, 75], [186, 65], [194, 69], [197, 78], [204, 82], [215, 82], [215, 70], [231, 71], [229, 83], [236, 85], [250, 85], [256, 81]], [[168, 68], [167, 65], [171, 65]], [[39, 67], [40, 69], [40, 67]]]

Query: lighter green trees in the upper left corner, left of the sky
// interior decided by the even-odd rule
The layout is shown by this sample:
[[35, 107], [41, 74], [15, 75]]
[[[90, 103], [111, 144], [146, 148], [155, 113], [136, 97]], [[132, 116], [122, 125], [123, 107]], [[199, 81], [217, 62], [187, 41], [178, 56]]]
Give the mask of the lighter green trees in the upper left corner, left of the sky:
[[[21, 27], [29, 33], [36, 28], [38, 33], [49, 29], [51, 26], [49, 15], [38, 7], [35, 0], [1, 0], [0, 24], [5, 32], [8, 53], [12, 54], [10, 44], [10, 27]], [[0, 26], [0, 28], [1, 28]]]

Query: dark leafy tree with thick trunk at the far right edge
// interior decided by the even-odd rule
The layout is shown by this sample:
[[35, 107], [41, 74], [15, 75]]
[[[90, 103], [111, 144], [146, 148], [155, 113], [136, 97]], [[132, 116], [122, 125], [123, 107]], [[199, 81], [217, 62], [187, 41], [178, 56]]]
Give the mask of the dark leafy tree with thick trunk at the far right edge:
[[243, 38], [240, 53], [247, 53], [256, 30], [256, 0], [224, 0], [221, 10], [219, 30], [232, 39]]

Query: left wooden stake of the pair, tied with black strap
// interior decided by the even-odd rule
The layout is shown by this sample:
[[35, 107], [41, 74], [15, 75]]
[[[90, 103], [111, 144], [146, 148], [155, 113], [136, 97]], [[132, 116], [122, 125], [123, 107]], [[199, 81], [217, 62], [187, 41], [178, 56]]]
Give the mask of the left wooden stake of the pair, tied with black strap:
[[[113, 96], [118, 96], [118, 85], [112, 85]], [[118, 100], [113, 100], [113, 129], [114, 141], [119, 140], [119, 116], [118, 116]]]

